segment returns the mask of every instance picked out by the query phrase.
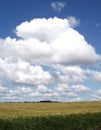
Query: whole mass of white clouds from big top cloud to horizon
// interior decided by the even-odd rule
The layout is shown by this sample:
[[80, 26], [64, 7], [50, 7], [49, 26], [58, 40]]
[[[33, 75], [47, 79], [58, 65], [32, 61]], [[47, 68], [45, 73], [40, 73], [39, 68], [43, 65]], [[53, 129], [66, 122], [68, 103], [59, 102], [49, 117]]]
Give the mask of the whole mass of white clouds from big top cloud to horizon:
[[6, 86], [0, 85], [1, 99], [82, 100], [78, 94], [90, 91], [85, 82], [101, 81], [101, 72], [83, 67], [101, 56], [75, 30], [78, 25], [72, 16], [36, 18], [16, 27], [18, 38], [0, 39], [0, 84]]

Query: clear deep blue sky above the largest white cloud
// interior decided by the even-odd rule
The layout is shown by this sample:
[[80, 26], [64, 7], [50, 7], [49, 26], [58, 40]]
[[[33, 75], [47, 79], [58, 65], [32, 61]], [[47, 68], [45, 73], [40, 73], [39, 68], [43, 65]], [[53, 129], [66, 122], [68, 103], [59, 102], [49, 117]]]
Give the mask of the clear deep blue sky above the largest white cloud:
[[17, 25], [33, 18], [75, 16], [80, 19], [76, 29], [100, 52], [101, 1], [64, 0], [66, 5], [59, 13], [53, 11], [51, 2], [54, 0], [0, 0], [0, 37], [13, 36]]

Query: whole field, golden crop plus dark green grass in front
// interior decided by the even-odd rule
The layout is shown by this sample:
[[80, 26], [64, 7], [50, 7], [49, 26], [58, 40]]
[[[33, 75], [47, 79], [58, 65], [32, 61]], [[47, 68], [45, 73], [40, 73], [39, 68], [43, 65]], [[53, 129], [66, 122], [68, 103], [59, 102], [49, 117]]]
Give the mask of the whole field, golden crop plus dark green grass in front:
[[101, 130], [101, 102], [0, 103], [0, 130]]

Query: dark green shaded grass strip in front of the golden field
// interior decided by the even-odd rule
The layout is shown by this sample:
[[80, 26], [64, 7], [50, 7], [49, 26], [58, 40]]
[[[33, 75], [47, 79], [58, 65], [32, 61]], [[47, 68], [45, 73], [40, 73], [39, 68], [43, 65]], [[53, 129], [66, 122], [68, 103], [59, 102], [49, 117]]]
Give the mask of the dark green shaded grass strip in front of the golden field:
[[101, 113], [0, 119], [0, 130], [101, 130]]

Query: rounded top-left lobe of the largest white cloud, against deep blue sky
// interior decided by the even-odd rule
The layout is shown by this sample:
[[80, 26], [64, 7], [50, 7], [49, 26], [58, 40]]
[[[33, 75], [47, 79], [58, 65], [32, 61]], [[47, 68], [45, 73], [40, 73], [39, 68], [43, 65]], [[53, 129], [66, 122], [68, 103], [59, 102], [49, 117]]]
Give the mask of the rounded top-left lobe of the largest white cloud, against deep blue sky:
[[70, 27], [67, 19], [36, 18], [30, 22], [26, 21], [16, 27], [17, 36], [29, 39], [35, 38], [39, 41], [50, 43]]

